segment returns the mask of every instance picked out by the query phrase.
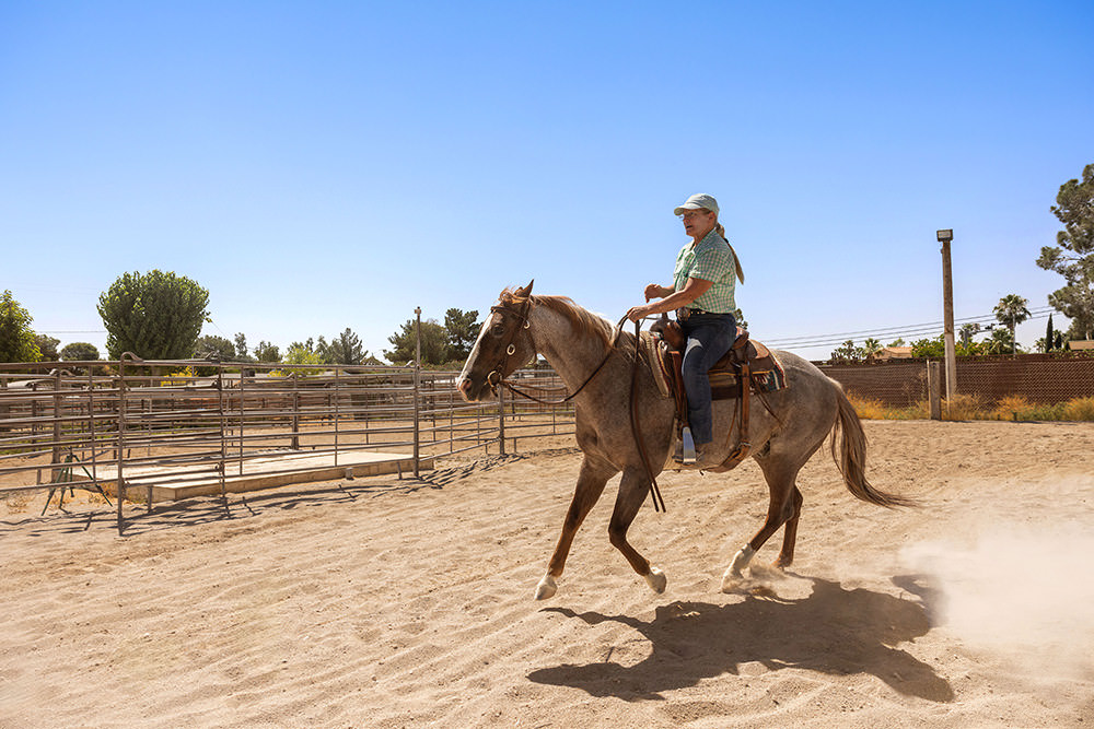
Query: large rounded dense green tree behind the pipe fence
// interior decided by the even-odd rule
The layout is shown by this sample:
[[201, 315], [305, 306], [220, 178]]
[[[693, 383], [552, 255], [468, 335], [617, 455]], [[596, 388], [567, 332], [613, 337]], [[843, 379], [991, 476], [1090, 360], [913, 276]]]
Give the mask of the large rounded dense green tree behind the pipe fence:
[[110, 358], [125, 352], [144, 360], [189, 356], [208, 305], [208, 291], [172, 271], [123, 274], [98, 297]]

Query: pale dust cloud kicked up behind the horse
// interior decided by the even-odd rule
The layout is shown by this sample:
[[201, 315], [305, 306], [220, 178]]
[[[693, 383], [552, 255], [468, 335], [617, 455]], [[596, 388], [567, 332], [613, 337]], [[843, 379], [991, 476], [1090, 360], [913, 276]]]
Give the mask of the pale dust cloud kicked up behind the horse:
[[[1094, 675], [1094, 522], [992, 521], [964, 545], [921, 542], [901, 561], [930, 590], [932, 622], [1043, 678]], [[968, 536], [968, 534], [966, 534]]]

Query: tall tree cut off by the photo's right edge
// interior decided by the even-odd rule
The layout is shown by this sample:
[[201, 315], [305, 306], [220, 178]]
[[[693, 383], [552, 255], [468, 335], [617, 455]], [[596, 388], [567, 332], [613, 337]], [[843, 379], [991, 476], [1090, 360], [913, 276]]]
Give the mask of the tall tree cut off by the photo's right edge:
[[1094, 339], [1094, 164], [1082, 180], [1060, 186], [1052, 213], [1063, 223], [1056, 245], [1040, 249], [1037, 266], [1063, 277], [1066, 286], [1048, 295], [1048, 303], [1071, 319], [1072, 339]]

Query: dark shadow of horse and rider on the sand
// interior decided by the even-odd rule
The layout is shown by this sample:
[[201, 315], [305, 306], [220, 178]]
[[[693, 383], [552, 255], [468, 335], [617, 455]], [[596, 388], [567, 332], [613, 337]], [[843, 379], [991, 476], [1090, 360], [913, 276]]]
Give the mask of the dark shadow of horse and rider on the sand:
[[[894, 581], [898, 580], [919, 581], [917, 576]], [[934, 669], [894, 647], [930, 630], [922, 604], [862, 588], [845, 590], [834, 581], [812, 581], [813, 593], [801, 600], [748, 598], [725, 605], [676, 602], [659, 607], [649, 622], [548, 608], [590, 625], [621, 623], [641, 633], [652, 649], [633, 666], [612, 661], [562, 665], [532, 671], [528, 679], [635, 701], [662, 698], [662, 692], [724, 673], [736, 675], [742, 665], [755, 661], [772, 671], [871, 673], [901, 694], [953, 701], [953, 689]]]

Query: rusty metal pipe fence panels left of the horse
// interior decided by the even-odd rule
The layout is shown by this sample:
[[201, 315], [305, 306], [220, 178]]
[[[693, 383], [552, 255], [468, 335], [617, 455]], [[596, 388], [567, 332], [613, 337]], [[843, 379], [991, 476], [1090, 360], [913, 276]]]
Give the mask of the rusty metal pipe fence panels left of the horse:
[[[152, 486], [127, 489], [127, 472], [167, 469], [156, 485], [242, 474], [248, 459], [353, 451], [423, 458], [572, 435], [571, 404], [467, 403], [458, 373], [418, 367], [212, 363], [203, 360], [0, 364], [0, 494], [84, 489], [152, 508]], [[550, 369], [525, 369], [523, 387], [565, 391]], [[267, 473], [304, 470], [292, 459]], [[399, 474], [401, 478], [401, 473]], [[147, 481], [147, 477], [142, 478]], [[43, 509], [45, 513], [45, 509]]]

